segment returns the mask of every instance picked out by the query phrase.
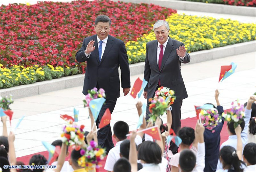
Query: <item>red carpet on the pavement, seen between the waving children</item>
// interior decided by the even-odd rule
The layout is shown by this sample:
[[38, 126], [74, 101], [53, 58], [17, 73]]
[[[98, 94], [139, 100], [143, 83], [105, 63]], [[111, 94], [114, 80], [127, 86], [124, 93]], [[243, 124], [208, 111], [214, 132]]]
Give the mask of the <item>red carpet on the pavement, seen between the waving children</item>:
[[[227, 109], [225, 110], [226, 111], [229, 111], [230, 109]], [[192, 127], [192, 128], [195, 128], [196, 126], [196, 117], [194, 118], [186, 118], [186, 119], [182, 119], [181, 120], [181, 127], [184, 127], [184, 126], [188, 126], [188, 127]], [[227, 126], [227, 122], [224, 123], [223, 125], [223, 129], [220, 133], [220, 145], [228, 140], [228, 132], [226, 130], [226, 126]], [[113, 142], [114, 142], [114, 145], [116, 145], [116, 140], [114, 138], [113, 139]], [[48, 159], [48, 151], [43, 151], [43, 152], [40, 152], [40, 153], [36, 153], [36, 154], [41, 154], [41, 155], [44, 155], [46, 159]], [[21, 156], [21, 157], [18, 157], [17, 158], [17, 161], [22, 161], [24, 164], [28, 164], [29, 163], [29, 159], [35, 154], [30, 154], [30, 155], [26, 155], [26, 156]], [[69, 156], [66, 158], [66, 160], [69, 159]], [[102, 168], [100, 168], [99, 171], [106, 171], [104, 170], [104, 165], [105, 165], [105, 162], [106, 162], [106, 157], [103, 161], [101, 161], [101, 164], [102, 164]]]

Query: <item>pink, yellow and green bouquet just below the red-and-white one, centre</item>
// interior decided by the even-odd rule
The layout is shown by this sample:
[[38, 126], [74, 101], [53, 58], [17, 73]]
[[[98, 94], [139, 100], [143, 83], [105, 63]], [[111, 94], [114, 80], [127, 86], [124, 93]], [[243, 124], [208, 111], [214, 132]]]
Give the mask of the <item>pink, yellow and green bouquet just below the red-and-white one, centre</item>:
[[168, 107], [168, 104], [164, 101], [163, 97], [159, 98], [150, 98], [149, 99], [150, 104], [149, 104], [149, 121], [155, 122], [157, 117], [160, 117], [164, 114], [166, 111], [166, 108]]

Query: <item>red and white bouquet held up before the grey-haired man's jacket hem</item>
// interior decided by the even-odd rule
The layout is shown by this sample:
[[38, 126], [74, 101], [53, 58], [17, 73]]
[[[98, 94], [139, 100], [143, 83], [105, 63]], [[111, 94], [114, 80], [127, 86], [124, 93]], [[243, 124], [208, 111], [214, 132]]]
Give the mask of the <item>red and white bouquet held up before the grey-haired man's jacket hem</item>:
[[174, 94], [175, 94], [175, 91], [162, 86], [156, 90], [154, 98], [158, 99], [158, 98], [162, 97], [167, 104], [171, 105], [171, 104], [173, 104], [174, 100], [176, 99], [176, 96], [174, 96]]

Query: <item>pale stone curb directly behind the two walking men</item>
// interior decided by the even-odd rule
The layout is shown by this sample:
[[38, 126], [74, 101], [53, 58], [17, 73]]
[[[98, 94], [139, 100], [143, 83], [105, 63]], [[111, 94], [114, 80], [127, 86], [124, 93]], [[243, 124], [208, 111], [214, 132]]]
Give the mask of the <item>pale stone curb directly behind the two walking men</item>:
[[[250, 42], [244, 42], [225, 47], [213, 48], [211, 50], [203, 50], [198, 52], [190, 53], [191, 61], [188, 64], [199, 63], [203, 61], [209, 61], [219, 59], [227, 56], [244, 54], [256, 51], [256, 40]], [[188, 65], [182, 64], [182, 65]], [[143, 74], [144, 62], [131, 64], [130, 73], [131, 75]], [[120, 76], [120, 70], [119, 70]], [[45, 92], [51, 92], [56, 90], [67, 89], [71, 87], [81, 86], [84, 83], [84, 74], [67, 76], [59, 79], [53, 79], [50, 81], [36, 82], [28, 85], [20, 85], [8, 89], [1, 89], [0, 96], [5, 97], [12, 94], [13, 99], [29, 97]]]

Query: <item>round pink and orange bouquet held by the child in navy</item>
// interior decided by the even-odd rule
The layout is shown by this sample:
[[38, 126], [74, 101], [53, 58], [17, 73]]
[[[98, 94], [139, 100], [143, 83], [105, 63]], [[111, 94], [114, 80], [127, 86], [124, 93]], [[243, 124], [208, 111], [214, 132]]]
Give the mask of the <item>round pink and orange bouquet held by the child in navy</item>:
[[218, 110], [215, 108], [212, 109], [202, 109], [200, 111], [200, 117], [202, 123], [204, 123], [204, 127], [208, 130], [212, 130], [212, 133], [215, 132], [214, 127], [221, 122], [221, 116], [218, 113]]

